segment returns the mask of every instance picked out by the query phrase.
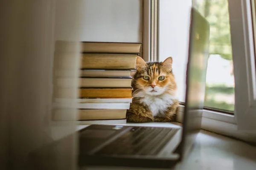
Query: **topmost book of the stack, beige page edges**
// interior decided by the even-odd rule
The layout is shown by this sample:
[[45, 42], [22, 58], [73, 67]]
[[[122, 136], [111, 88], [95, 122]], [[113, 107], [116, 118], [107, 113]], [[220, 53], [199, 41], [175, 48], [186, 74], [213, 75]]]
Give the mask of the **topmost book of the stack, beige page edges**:
[[69, 42], [56, 41], [55, 51], [101, 52], [101, 53], [140, 53], [142, 43], [129, 42]]

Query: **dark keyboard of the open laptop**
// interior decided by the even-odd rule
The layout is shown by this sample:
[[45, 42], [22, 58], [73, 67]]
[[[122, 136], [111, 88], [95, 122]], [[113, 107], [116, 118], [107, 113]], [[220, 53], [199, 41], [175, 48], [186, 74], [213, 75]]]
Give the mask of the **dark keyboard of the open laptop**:
[[133, 127], [95, 154], [156, 155], [177, 130], [165, 127]]

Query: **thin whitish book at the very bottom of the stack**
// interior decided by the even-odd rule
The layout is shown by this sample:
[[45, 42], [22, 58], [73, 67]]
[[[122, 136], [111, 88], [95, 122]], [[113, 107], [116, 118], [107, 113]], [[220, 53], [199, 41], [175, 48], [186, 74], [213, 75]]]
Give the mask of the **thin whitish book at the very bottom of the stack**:
[[126, 124], [126, 119], [112, 119], [112, 120], [79, 120], [76, 121], [77, 125], [119, 125]]

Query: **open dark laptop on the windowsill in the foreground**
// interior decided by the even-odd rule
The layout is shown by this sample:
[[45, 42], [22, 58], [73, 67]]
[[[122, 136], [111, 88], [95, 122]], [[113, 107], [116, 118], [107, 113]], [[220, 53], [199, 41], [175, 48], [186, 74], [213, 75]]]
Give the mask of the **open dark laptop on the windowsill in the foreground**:
[[79, 131], [79, 166], [170, 167], [189, 153], [200, 128], [209, 23], [191, 10], [183, 127], [89, 125]]

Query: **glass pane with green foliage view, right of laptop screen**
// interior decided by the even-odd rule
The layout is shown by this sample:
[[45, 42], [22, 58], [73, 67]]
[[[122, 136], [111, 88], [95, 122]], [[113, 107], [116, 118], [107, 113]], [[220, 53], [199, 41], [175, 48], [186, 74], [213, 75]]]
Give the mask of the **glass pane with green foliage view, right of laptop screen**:
[[209, 59], [204, 105], [234, 111], [235, 90], [227, 0], [196, 0], [210, 24]]

